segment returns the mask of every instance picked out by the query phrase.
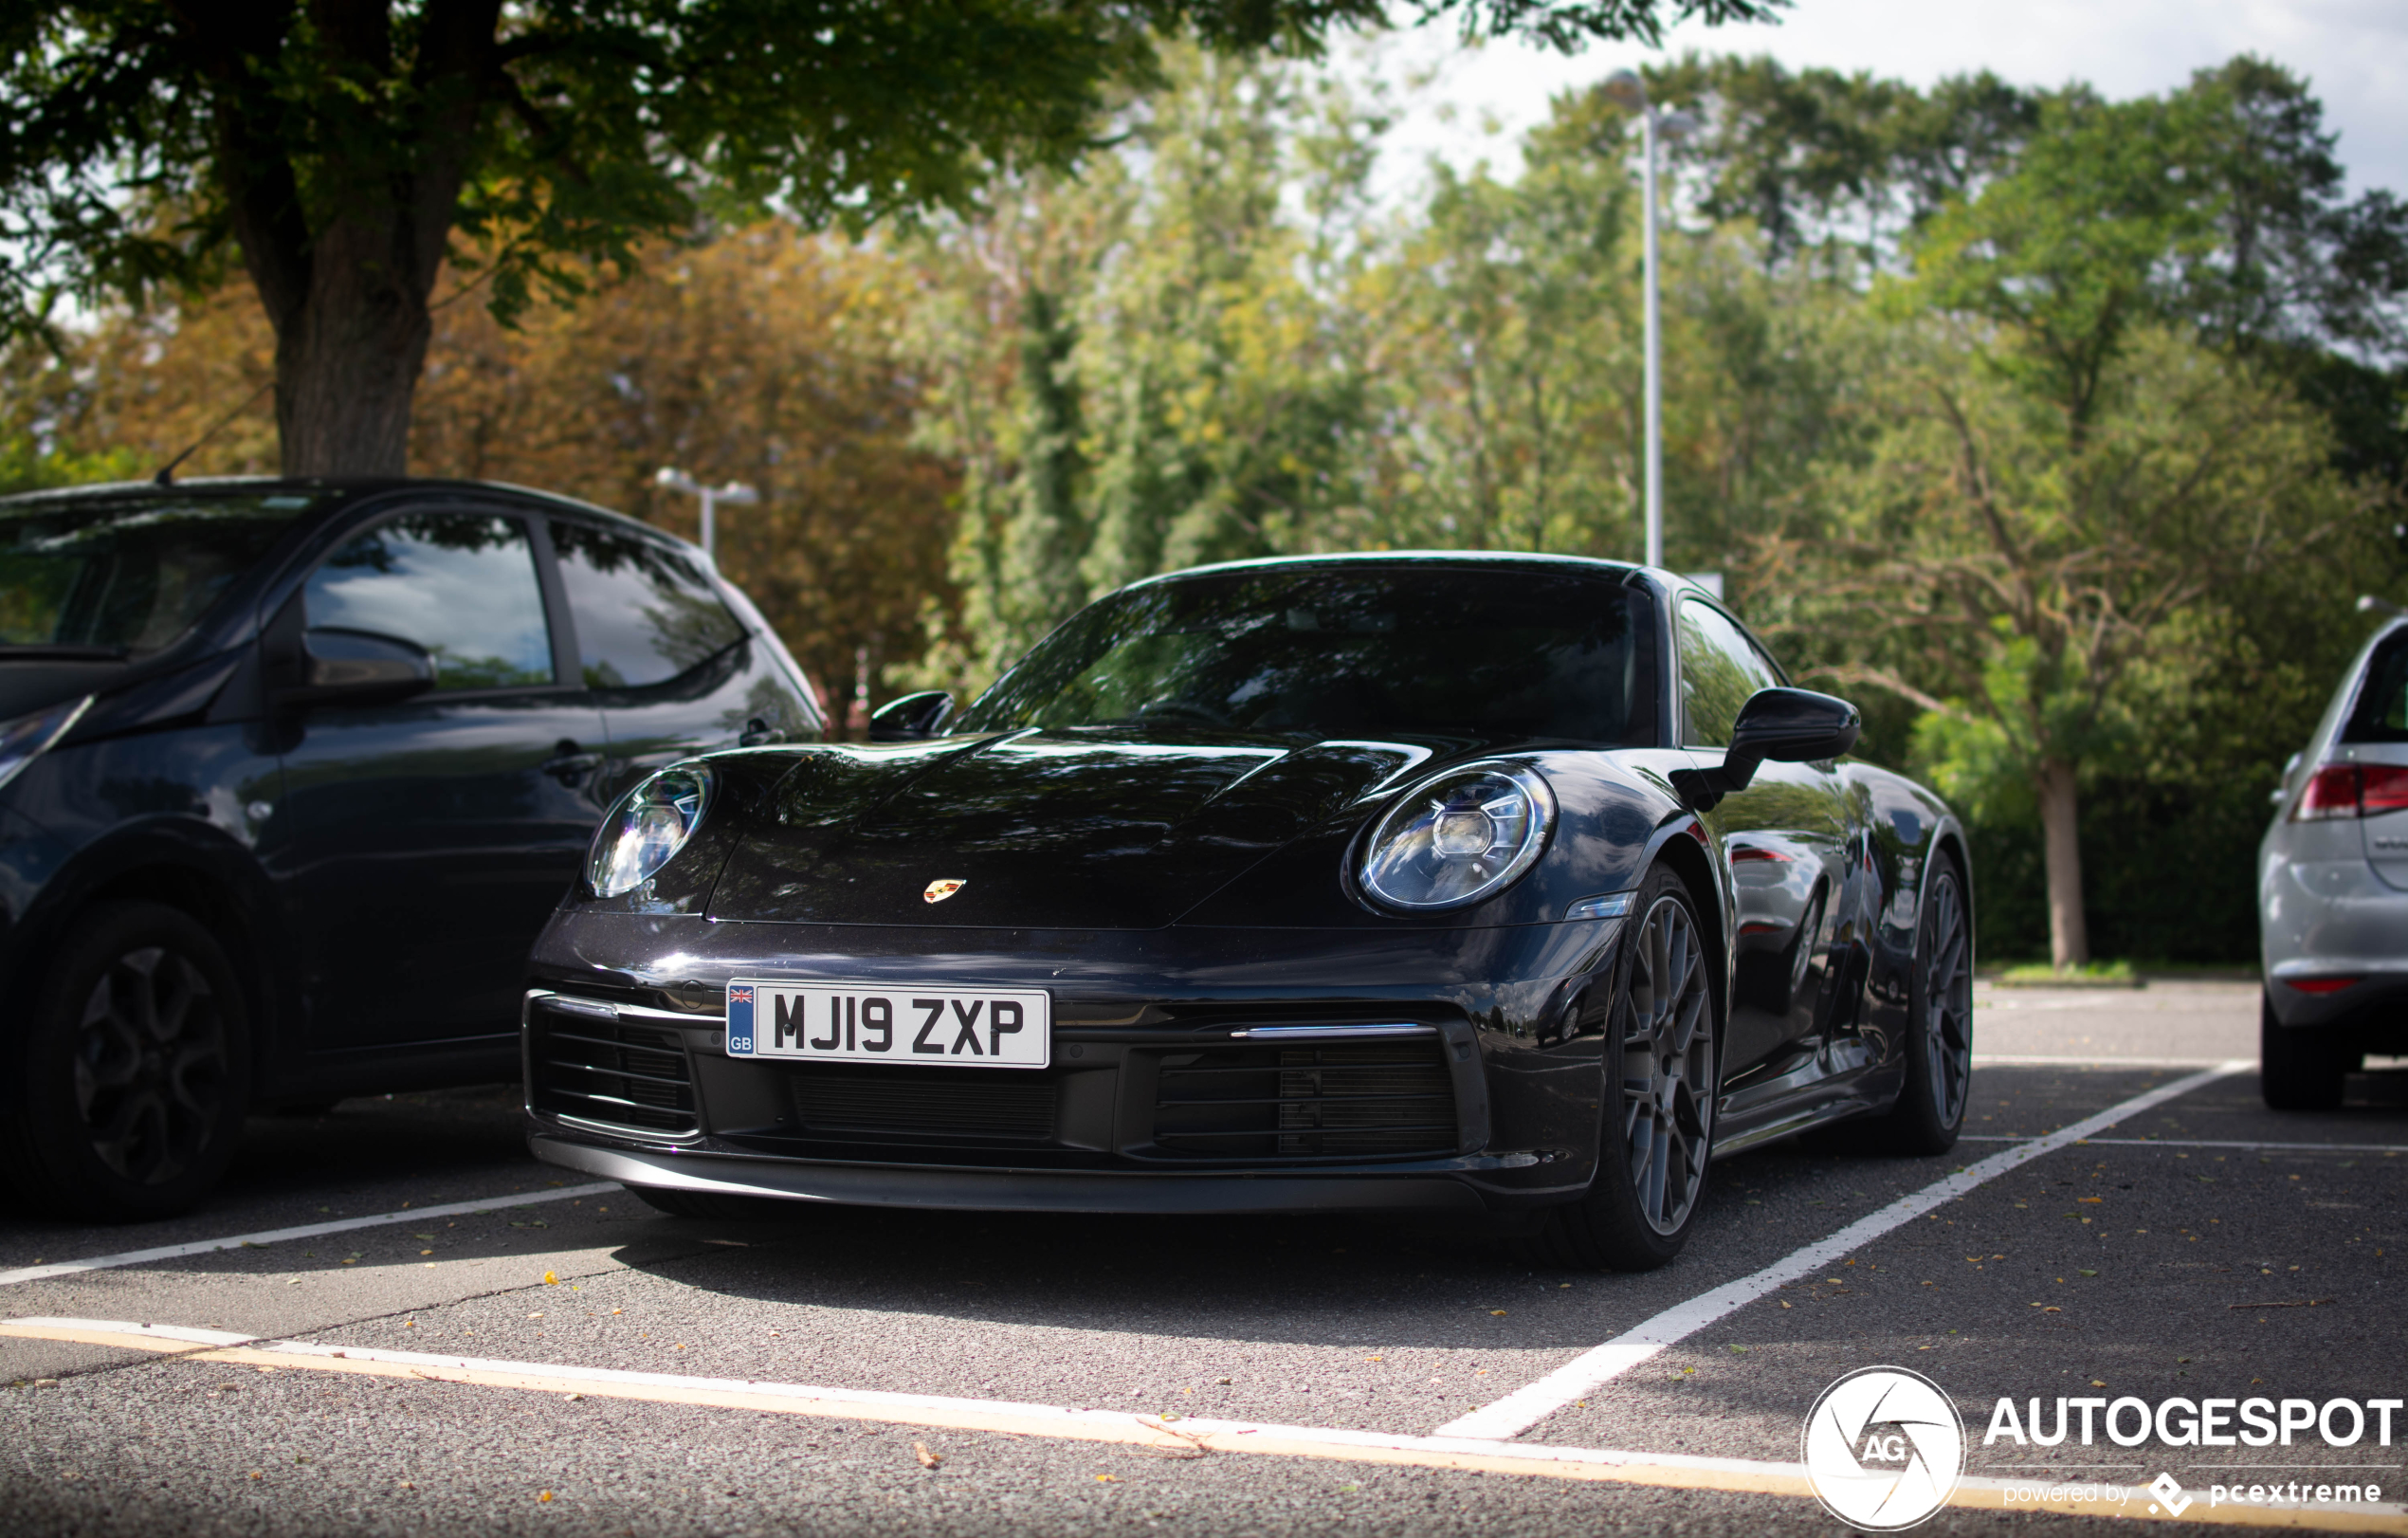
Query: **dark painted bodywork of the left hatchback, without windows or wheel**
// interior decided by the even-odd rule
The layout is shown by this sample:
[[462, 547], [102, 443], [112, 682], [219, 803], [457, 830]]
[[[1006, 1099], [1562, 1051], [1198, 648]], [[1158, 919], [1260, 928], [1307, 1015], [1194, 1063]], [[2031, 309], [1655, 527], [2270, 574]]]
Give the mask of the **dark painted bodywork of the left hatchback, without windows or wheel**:
[[[200, 917], [243, 970], [255, 1100], [508, 1078], [527, 943], [573, 883], [612, 797], [657, 763], [739, 741], [751, 724], [811, 739], [816, 703], [725, 582], [746, 640], [653, 688], [580, 686], [542, 530], [568, 517], [667, 542], [621, 515], [474, 481], [178, 486], [181, 496], [262, 491], [330, 501], [296, 517], [161, 652], [0, 657], [0, 715], [96, 696], [0, 789], [0, 989], [31, 996], [43, 958], [89, 903], [149, 898]], [[566, 684], [279, 705], [279, 684], [296, 676], [308, 570], [359, 530], [429, 508], [525, 520]]]

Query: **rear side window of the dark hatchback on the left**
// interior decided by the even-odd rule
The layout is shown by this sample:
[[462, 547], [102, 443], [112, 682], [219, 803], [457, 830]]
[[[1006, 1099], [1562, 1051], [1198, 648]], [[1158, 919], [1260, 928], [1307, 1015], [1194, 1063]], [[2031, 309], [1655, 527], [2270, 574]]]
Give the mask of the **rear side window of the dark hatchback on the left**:
[[588, 688], [662, 684], [744, 638], [710, 580], [669, 546], [554, 520]]

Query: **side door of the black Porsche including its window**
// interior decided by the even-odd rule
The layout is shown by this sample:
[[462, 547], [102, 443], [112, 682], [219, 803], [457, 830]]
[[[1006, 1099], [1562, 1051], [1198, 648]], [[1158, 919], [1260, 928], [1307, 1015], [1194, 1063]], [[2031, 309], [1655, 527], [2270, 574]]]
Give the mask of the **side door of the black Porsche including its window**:
[[[1739, 626], [1698, 595], [1676, 607], [1681, 746], [1719, 765], [1739, 708], [1787, 684]], [[1705, 814], [1722, 840], [1739, 900], [1739, 975], [1724, 1078], [1820, 1035], [1832, 939], [1859, 900], [1847, 797], [1830, 763], [1763, 763], [1748, 787]]]

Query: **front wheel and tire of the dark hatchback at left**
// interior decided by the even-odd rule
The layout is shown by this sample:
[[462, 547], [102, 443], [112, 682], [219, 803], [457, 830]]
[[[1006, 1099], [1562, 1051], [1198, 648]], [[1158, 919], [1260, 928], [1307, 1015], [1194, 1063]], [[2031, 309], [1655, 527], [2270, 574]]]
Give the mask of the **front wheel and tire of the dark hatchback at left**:
[[104, 1223], [190, 1211], [250, 1110], [241, 980], [176, 907], [89, 907], [34, 994], [12, 1066], [0, 1172], [29, 1206]]

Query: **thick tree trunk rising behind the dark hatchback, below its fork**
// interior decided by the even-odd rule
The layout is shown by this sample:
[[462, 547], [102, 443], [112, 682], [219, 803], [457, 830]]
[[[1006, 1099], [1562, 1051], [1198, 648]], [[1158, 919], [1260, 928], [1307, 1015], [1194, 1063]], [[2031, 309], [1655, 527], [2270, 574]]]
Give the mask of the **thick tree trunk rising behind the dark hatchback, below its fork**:
[[[383, 224], [383, 229], [378, 229]], [[433, 274], [385, 221], [344, 221], [311, 253], [308, 294], [277, 323], [284, 474], [407, 474]]]

